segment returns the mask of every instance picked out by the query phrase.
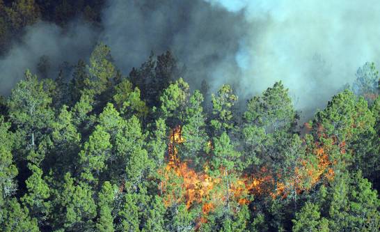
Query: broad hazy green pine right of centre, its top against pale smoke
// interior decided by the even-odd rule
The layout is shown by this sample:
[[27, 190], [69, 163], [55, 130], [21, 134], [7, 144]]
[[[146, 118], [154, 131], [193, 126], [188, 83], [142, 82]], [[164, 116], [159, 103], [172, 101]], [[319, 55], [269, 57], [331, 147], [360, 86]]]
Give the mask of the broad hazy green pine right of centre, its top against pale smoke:
[[[244, 160], [250, 169], [265, 165], [271, 171], [282, 171], [281, 174], [286, 174], [292, 170], [290, 173], [294, 174], [302, 156], [302, 153], [298, 153], [299, 150], [294, 150], [301, 146], [300, 139], [292, 134], [296, 119], [288, 90], [281, 82], [267, 88], [262, 96], [248, 100], [242, 137]], [[290, 144], [294, 147], [290, 147]], [[287, 176], [292, 176], [290, 173]]]

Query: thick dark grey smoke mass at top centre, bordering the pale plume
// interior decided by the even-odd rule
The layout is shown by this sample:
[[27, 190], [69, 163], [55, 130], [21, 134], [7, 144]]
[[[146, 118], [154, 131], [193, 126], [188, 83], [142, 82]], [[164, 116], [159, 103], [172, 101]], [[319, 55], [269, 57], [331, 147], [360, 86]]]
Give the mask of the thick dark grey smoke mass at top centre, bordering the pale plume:
[[219, 88], [240, 76], [235, 54], [247, 33], [243, 14], [202, 0], [111, 0], [102, 19], [102, 40], [124, 73], [146, 61], [151, 51], [170, 49], [186, 65], [185, 78], [192, 85], [207, 79]]

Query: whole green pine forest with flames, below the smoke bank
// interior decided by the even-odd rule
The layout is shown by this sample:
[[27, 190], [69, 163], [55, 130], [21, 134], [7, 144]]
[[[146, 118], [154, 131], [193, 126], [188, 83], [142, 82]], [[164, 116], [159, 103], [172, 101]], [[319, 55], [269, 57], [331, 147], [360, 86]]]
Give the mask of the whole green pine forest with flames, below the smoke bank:
[[379, 231], [373, 63], [307, 123], [281, 82], [242, 102], [183, 72], [166, 52], [126, 75], [102, 43], [68, 77], [26, 70], [0, 103], [0, 231]]

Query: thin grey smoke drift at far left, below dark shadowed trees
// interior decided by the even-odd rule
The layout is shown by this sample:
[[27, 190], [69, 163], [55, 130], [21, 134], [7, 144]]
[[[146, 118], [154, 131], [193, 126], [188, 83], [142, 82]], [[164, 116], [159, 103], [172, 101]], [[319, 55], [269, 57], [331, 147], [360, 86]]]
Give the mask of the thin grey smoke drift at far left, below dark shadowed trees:
[[[88, 57], [96, 37], [95, 29], [83, 22], [72, 22], [65, 30], [47, 22], [26, 27], [22, 41], [0, 59], [0, 93], [10, 93], [25, 70], [36, 73], [39, 64], [45, 67], [47, 77], [56, 78], [64, 62], [73, 65]], [[47, 62], [41, 62], [44, 60]]]

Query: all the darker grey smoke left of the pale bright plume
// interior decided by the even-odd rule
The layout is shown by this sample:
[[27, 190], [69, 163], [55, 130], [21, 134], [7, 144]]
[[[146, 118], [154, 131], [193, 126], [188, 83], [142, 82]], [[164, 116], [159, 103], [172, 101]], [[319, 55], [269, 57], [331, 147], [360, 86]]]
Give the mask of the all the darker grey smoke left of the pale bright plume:
[[86, 59], [102, 40], [127, 75], [148, 59], [150, 52], [170, 49], [187, 68], [186, 79], [199, 86], [207, 79], [212, 88], [225, 82], [238, 86], [241, 70], [235, 54], [246, 35], [243, 14], [214, 8], [203, 0], [109, 0], [102, 13], [102, 31], [73, 22], [63, 31], [40, 22], [26, 29], [22, 42], [0, 60], [0, 93], [8, 93], [26, 68], [35, 72], [41, 58], [49, 61], [48, 76], [55, 78], [64, 61]]

